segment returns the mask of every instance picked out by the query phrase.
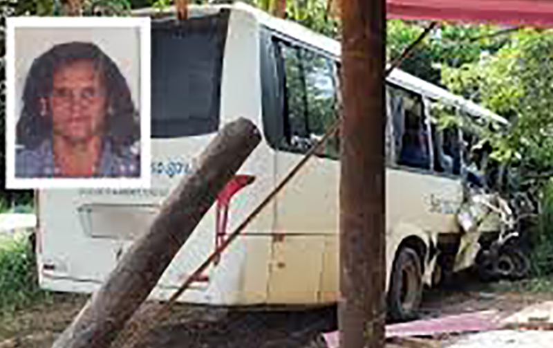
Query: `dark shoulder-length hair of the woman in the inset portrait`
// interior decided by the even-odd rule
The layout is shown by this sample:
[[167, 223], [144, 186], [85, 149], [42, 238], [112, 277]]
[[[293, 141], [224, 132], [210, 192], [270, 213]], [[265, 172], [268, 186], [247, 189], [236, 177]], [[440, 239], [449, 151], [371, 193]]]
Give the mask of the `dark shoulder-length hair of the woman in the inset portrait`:
[[32, 63], [23, 92], [24, 106], [17, 122], [17, 143], [33, 149], [46, 138], [52, 137], [50, 106], [47, 114], [41, 116], [41, 100], [51, 95], [54, 73], [59, 68], [83, 59], [91, 60], [102, 75], [107, 97], [104, 135], [111, 141], [113, 150], [120, 153], [124, 147], [140, 138], [140, 122], [135, 117], [138, 111], [119, 68], [95, 44], [69, 42], [50, 48]]

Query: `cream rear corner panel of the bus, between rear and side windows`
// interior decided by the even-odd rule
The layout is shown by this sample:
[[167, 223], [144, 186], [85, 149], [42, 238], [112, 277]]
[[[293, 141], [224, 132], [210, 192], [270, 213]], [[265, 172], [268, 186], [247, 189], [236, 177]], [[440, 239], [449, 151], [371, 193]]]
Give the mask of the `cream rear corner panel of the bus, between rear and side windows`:
[[[261, 121], [261, 76], [259, 73], [259, 24], [246, 12], [232, 12], [225, 48], [221, 116], [223, 122], [252, 120], [263, 135]], [[233, 196], [226, 232], [233, 232], [274, 186], [274, 154], [265, 138], [245, 161], [238, 174], [254, 176], [252, 184]], [[212, 269], [212, 298], [215, 304], [261, 304], [267, 299], [267, 237], [274, 226], [274, 203], [270, 203], [221, 255]], [[207, 255], [206, 255], [207, 256]]]

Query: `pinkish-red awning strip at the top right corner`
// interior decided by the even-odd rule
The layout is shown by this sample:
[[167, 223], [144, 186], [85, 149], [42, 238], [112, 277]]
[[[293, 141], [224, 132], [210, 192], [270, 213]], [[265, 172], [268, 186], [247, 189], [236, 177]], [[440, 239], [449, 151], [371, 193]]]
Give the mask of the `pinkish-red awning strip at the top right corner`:
[[551, 26], [552, 0], [387, 0], [388, 18]]

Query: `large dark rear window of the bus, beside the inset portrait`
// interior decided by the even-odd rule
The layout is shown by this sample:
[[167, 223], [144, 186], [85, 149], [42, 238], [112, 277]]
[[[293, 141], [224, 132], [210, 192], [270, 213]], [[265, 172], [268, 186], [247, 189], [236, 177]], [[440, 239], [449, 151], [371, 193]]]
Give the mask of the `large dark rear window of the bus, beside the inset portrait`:
[[151, 136], [214, 133], [219, 127], [228, 12], [151, 24]]

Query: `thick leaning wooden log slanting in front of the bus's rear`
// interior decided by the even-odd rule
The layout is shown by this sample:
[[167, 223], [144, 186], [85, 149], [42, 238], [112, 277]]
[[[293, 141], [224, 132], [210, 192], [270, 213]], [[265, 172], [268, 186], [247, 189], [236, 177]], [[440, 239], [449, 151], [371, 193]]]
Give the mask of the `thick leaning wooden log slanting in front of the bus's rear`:
[[218, 134], [201, 154], [194, 173], [171, 193], [149, 230], [135, 241], [53, 348], [111, 345], [260, 140], [258, 129], [245, 119]]

